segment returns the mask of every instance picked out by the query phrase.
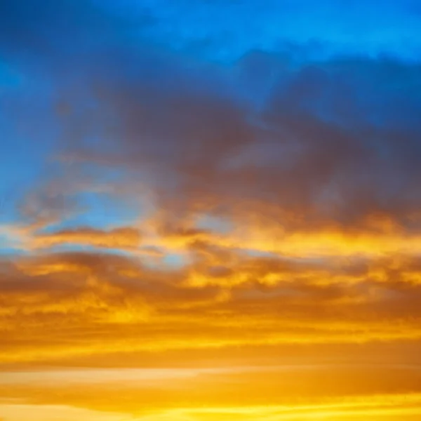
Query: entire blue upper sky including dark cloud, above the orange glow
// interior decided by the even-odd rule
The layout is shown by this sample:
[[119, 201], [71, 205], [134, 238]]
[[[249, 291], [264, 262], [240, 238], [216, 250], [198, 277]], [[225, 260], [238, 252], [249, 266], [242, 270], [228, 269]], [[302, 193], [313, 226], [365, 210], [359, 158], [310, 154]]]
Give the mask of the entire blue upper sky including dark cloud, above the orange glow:
[[[79, 209], [60, 221], [63, 229], [142, 218], [145, 200], [139, 196], [120, 195], [118, 204], [110, 204], [124, 184], [165, 190], [166, 199], [180, 201], [186, 213], [196, 206], [194, 189], [206, 190], [208, 198], [238, 194], [276, 201], [273, 186], [265, 187], [267, 178], [279, 177], [274, 168], [300, 155], [294, 139], [306, 136], [305, 126], [312, 124], [318, 139], [308, 145], [305, 140], [304, 147], [314, 148], [313, 157], [336, 147], [332, 154], [338, 156], [304, 159], [314, 171], [324, 165], [331, 173], [317, 174], [312, 187], [303, 166], [293, 171], [295, 192], [279, 187], [288, 198], [285, 206], [341, 200], [341, 189], [352, 196], [359, 183], [366, 183], [366, 194], [376, 192], [372, 199], [354, 199], [362, 207], [403, 218], [406, 210], [397, 208], [418, 203], [411, 184], [419, 176], [420, 156], [416, 1], [107, 0], [59, 6], [19, 0], [4, 2], [0, 12], [5, 222], [28, 218], [22, 209], [29, 192], [45, 196], [52, 183], [61, 183], [55, 186], [62, 189], [61, 201]], [[294, 119], [302, 119], [302, 128], [295, 128]], [[359, 140], [322, 140], [333, 131]], [[258, 142], [233, 156], [231, 149], [213, 145], [225, 135], [254, 139], [228, 149]], [[203, 139], [196, 142], [198, 136]], [[281, 145], [279, 136], [291, 144]], [[372, 156], [355, 174], [358, 154]], [[63, 165], [60, 156], [71, 156], [72, 163]], [[249, 161], [264, 168], [252, 187], [233, 181], [215, 189], [218, 168], [240, 171]], [[185, 172], [197, 171], [194, 162], [207, 171], [202, 180]], [[291, 176], [288, 168], [283, 171]], [[98, 194], [107, 185], [114, 193]], [[349, 212], [358, 218], [366, 211]], [[347, 220], [349, 212], [329, 216]], [[57, 223], [50, 229], [58, 229]]]

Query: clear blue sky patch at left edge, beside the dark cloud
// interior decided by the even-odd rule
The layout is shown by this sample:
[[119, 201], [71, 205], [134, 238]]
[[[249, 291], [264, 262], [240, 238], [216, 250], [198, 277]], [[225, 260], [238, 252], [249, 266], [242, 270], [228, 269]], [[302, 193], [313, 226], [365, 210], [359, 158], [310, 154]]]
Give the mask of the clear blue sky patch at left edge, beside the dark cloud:
[[18, 218], [16, 206], [42, 176], [60, 126], [51, 119], [53, 83], [32, 65], [0, 60], [0, 221]]

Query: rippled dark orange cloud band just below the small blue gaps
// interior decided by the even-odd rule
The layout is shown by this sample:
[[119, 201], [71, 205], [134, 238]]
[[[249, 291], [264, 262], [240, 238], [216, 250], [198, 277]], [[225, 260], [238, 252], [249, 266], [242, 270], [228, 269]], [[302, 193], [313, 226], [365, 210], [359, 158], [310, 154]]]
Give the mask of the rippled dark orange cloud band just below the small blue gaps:
[[223, 264], [199, 257], [178, 269], [109, 253], [9, 260], [1, 361], [420, 339], [416, 258], [226, 255]]

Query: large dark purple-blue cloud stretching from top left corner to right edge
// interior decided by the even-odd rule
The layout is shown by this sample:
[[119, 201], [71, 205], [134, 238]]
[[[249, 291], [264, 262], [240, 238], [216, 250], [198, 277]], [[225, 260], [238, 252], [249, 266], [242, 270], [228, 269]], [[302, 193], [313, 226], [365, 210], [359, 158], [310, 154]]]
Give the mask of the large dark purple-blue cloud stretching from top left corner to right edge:
[[122, 18], [89, 2], [25, 6], [2, 6], [4, 45], [46, 64], [67, 147], [123, 163], [169, 213], [247, 215], [251, 200], [307, 223], [414, 218], [419, 65], [253, 53], [223, 69], [142, 36], [124, 43]]

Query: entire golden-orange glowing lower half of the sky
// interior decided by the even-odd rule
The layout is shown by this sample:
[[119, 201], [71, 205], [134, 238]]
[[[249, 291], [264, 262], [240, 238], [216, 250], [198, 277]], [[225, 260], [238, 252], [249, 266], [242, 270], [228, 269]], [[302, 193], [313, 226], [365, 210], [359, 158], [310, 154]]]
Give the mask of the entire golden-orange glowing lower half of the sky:
[[148, 223], [9, 230], [1, 421], [420, 419], [421, 237]]

